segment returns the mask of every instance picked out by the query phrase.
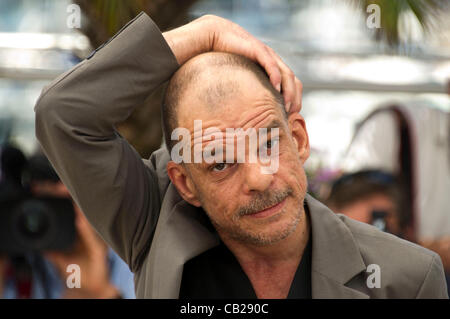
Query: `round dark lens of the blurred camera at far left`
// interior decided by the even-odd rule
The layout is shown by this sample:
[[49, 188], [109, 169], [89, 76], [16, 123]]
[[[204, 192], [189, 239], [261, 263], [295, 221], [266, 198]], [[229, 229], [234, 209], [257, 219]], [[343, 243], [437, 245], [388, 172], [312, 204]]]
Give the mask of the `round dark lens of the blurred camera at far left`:
[[31, 200], [23, 203], [21, 210], [18, 227], [22, 235], [28, 239], [44, 237], [50, 226], [45, 205]]

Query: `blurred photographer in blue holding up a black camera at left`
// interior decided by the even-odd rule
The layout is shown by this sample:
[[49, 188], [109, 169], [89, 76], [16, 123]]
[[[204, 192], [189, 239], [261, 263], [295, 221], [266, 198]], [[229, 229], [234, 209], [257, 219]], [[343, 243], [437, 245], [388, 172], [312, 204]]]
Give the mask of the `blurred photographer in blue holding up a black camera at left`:
[[[30, 158], [27, 172], [33, 198], [71, 200], [45, 156]], [[133, 275], [128, 266], [108, 249], [80, 209], [72, 202], [70, 205], [74, 214], [65, 218], [72, 216], [75, 238], [64, 249], [9, 256], [2, 272], [4, 298], [134, 298]], [[70, 233], [69, 227], [65, 231]], [[67, 267], [71, 264], [81, 270], [80, 288], [67, 287], [71, 274]]]

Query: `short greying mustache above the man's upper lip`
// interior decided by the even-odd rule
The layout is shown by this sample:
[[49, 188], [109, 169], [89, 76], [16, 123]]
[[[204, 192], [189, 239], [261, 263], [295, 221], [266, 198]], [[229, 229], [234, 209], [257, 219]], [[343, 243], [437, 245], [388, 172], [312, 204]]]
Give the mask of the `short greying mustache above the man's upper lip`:
[[286, 189], [281, 191], [266, 190], [263, 193], [258, 193], [248, 205], [243, 206], [238, 210], [237, 215], [244, 216], [254, 214], [269, 207], [275, 206], [281, 203], [292, 193], [293, 190], [290, 187], [287, 187]]

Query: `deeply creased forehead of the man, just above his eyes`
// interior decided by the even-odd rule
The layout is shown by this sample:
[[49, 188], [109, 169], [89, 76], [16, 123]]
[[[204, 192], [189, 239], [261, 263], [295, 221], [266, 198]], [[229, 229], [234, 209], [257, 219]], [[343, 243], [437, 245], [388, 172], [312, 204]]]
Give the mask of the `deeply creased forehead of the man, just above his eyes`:
[[[287, 131], [287, 123], [280, 106], [270, 93], [243, 94], [227, 99], [227, 103], [211, 110], [201, 105], [184, 116], [180, 126], [174, 130], [172, 140], [187, 143], [190, 163], [255, 161], [260, 146], [276, 139]], [[178, 148], [174, 148], [178, 152]], [[192, 159], [194, 158], [194, 160]]]

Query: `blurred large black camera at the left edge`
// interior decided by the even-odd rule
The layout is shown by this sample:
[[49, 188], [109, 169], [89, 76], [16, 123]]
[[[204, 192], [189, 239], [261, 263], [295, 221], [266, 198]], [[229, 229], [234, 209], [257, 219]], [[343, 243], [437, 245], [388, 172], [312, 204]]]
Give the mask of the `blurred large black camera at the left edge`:
[[[11, 147], [2, 149], [1, 159], [0, 254], [20, 255], [70, 249], [76, 237], [75, 211], [71, 199], [47, 195], [37, 197], [22, 187], [22, 171], [25, 167], [29, 169], [34, 166], [33, 171], [40, 175], [40, 180], [48, 181], [43, 179], [43, 173], [52, 173], [50, 163], [41, 156], [34, 160], [34, 164], [31, 163], [33, 165], [26, 164], [23, 154]], [[59, 179], [51, 182], [57, 181]]]

